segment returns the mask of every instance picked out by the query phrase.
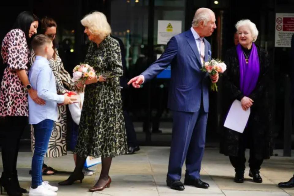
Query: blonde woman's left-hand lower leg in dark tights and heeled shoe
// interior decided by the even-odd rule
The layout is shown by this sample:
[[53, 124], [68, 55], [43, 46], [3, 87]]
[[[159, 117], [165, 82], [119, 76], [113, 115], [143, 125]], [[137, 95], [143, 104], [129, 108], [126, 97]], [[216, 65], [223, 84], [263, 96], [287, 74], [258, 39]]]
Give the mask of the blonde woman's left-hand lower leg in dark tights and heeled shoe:
[[74, 172], [70, 174], [70, 177], [67, 180], [59, 182], [58, 184], [61, 186], [72, 185], [75, 181], [80, 180], [82, 183], [84, 179], [83, 167], [85, 164], [86, 158], [77, 156], [77, 164], [74, 168]]

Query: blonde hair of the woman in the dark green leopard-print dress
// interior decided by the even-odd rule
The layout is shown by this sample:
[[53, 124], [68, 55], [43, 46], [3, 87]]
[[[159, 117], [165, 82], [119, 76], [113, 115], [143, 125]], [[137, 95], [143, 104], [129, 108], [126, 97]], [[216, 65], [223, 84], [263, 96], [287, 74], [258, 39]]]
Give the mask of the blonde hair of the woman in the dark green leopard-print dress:
[[93, 12], [86, 15], [81, 20], [81, 24], [84, 27], [89, 28], [90, 32], [99, 36], [100, 39], [104, 39], [111, 33], [111, 28], [107, 22], [106, 16], [101, 12]]

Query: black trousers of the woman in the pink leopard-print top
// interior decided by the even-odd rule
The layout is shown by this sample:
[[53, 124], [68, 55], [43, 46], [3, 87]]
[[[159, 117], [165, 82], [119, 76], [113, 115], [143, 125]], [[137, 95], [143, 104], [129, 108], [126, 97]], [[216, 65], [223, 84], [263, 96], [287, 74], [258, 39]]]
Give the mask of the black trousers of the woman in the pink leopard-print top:
[[1, 128], [1, 146], [3, 172], [11, 176], [16, 171], [17, 155], [19, 151], [19, 142], [26, 125], [28, 117], [26, 116], [6, 116], [4, 118], [3, 128]]

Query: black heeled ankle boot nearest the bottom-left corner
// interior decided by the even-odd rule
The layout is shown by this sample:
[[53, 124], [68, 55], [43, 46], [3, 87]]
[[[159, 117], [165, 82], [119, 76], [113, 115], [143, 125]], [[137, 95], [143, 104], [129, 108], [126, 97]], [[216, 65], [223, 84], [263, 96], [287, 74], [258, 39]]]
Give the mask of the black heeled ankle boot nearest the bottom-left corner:
[[4, 192], [7, 192], [9, 196], [21, 196], [22, 193], [17, 190], [17, 186], [15, 181], [13, 180], [12, 175], [6, 175], [2, 172], [2, 176], [0, 178], [0, 191], [2, 193], [2, 187], [4, 187]]

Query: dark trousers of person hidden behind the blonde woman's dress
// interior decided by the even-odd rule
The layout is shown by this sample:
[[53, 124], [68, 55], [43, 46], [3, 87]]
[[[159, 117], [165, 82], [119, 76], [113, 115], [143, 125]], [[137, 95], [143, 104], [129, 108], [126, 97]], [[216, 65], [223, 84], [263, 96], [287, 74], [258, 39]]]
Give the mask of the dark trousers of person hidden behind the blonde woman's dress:
[[134, 124], [132, 119], [130, 118], [128, 112], [128, 104], [127, 104], [127, 89], [121, 90], [122, 101], [123, 101], [123, 117], [125, 120], [125, 127], [126, 127], [126, 138], [128, 142], [128, 146], [138, 146], [137, 135], [134, 129]]

